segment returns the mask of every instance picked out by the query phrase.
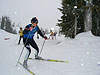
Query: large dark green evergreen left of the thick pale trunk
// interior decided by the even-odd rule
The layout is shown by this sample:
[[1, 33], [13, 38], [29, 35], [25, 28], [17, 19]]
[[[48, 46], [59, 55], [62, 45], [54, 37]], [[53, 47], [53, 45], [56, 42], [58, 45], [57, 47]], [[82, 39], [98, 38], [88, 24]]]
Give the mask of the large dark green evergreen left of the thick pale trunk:
[[74, 38], [76, 34], [84, 31], [84, 0], [62, 0], [61, 20], [57, 26], [65, 37]]

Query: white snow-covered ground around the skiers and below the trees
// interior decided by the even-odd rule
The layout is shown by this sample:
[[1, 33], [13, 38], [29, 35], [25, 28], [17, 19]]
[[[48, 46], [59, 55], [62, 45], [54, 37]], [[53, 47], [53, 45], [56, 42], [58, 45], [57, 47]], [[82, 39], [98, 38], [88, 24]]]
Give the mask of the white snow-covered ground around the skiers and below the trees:
[[[31, 75], [21, 65], [16, 67], [23, 48], [22, 41], [17, 45], [18, 38], [18, 35], [0, 30], [0, 75]], [[44, 39], [35, 40], [41, 50]], [[24, 48], [20, 62], [23, 62], [25, 53]], [[100, 37], [91, 32], [78, 34], [75, 39], [61, 35], [56, 40], [46, 40], [40, 56], [69, 63], [29, 60], [29, 69], [36, 75], [100, 75]], [[34, 58], [33, 48], [30, 57]]]

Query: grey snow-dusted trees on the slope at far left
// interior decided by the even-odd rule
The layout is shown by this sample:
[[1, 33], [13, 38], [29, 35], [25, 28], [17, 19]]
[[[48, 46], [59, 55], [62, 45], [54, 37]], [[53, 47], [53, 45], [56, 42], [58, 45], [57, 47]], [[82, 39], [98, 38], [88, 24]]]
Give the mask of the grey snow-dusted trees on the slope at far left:
[[1, 23], [0, 25], [1, 29], [9, 33], [17, 34], [16, 29], [14, 29], [15, 23], [11, 22], [10, 17], [2, 16], [0, 23]]

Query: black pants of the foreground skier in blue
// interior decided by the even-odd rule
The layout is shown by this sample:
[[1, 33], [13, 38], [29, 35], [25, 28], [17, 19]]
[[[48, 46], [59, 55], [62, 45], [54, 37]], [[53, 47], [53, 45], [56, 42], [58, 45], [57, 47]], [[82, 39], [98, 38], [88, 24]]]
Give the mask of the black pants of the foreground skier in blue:
[[[37, 44], [35, 43], [34, 39], [23, 38], [23, 43], [24, 43], [25, 47], [28, 49], [28, 51], [29, 51], [28, 57], [29, 57], [30, 54], [31, 54], [30, 45], [31, 45], [35, 50], [37, 50], [37, 53], [39, 53], [39, 48], [38, 48]], [[28, 58], [27, 58], [27, 59], [28, 59]]]

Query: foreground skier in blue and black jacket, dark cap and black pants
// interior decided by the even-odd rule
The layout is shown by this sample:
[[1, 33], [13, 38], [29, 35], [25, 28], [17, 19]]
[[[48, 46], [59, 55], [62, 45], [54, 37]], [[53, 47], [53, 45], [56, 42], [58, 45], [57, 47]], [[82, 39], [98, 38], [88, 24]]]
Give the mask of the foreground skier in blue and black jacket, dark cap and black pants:
[[31, 48], [30, 48], [30, 45], [35, 49], [35, 59], [40, 59], [41, 57], [38, 56], [38, 53], [39, 53], [39, 48], [37, 46], [37, 44], [35, 43], [33, 37], [35, 35], [36, 32], [38, 32], [38, 34], [43, 37], [45, 40], [47, 39], [46, 36], [44, 36], [41, 32], [41, 30], [39, 29], [38, 27], [38, 19], [36, 17], [33, 17], [31, 19], [31, 24], [28, 24], [24, 31], [23, 31], [23, 43], [27, 49], [27, 53], [26, 53], [26, 56], [25, 56], [25, 59], [24, 59], [24, 62], [23, 62], [23, 66], [25, 68], [27, 68], [27, 61], [28, 61], [28, 58], [31, 54]]

